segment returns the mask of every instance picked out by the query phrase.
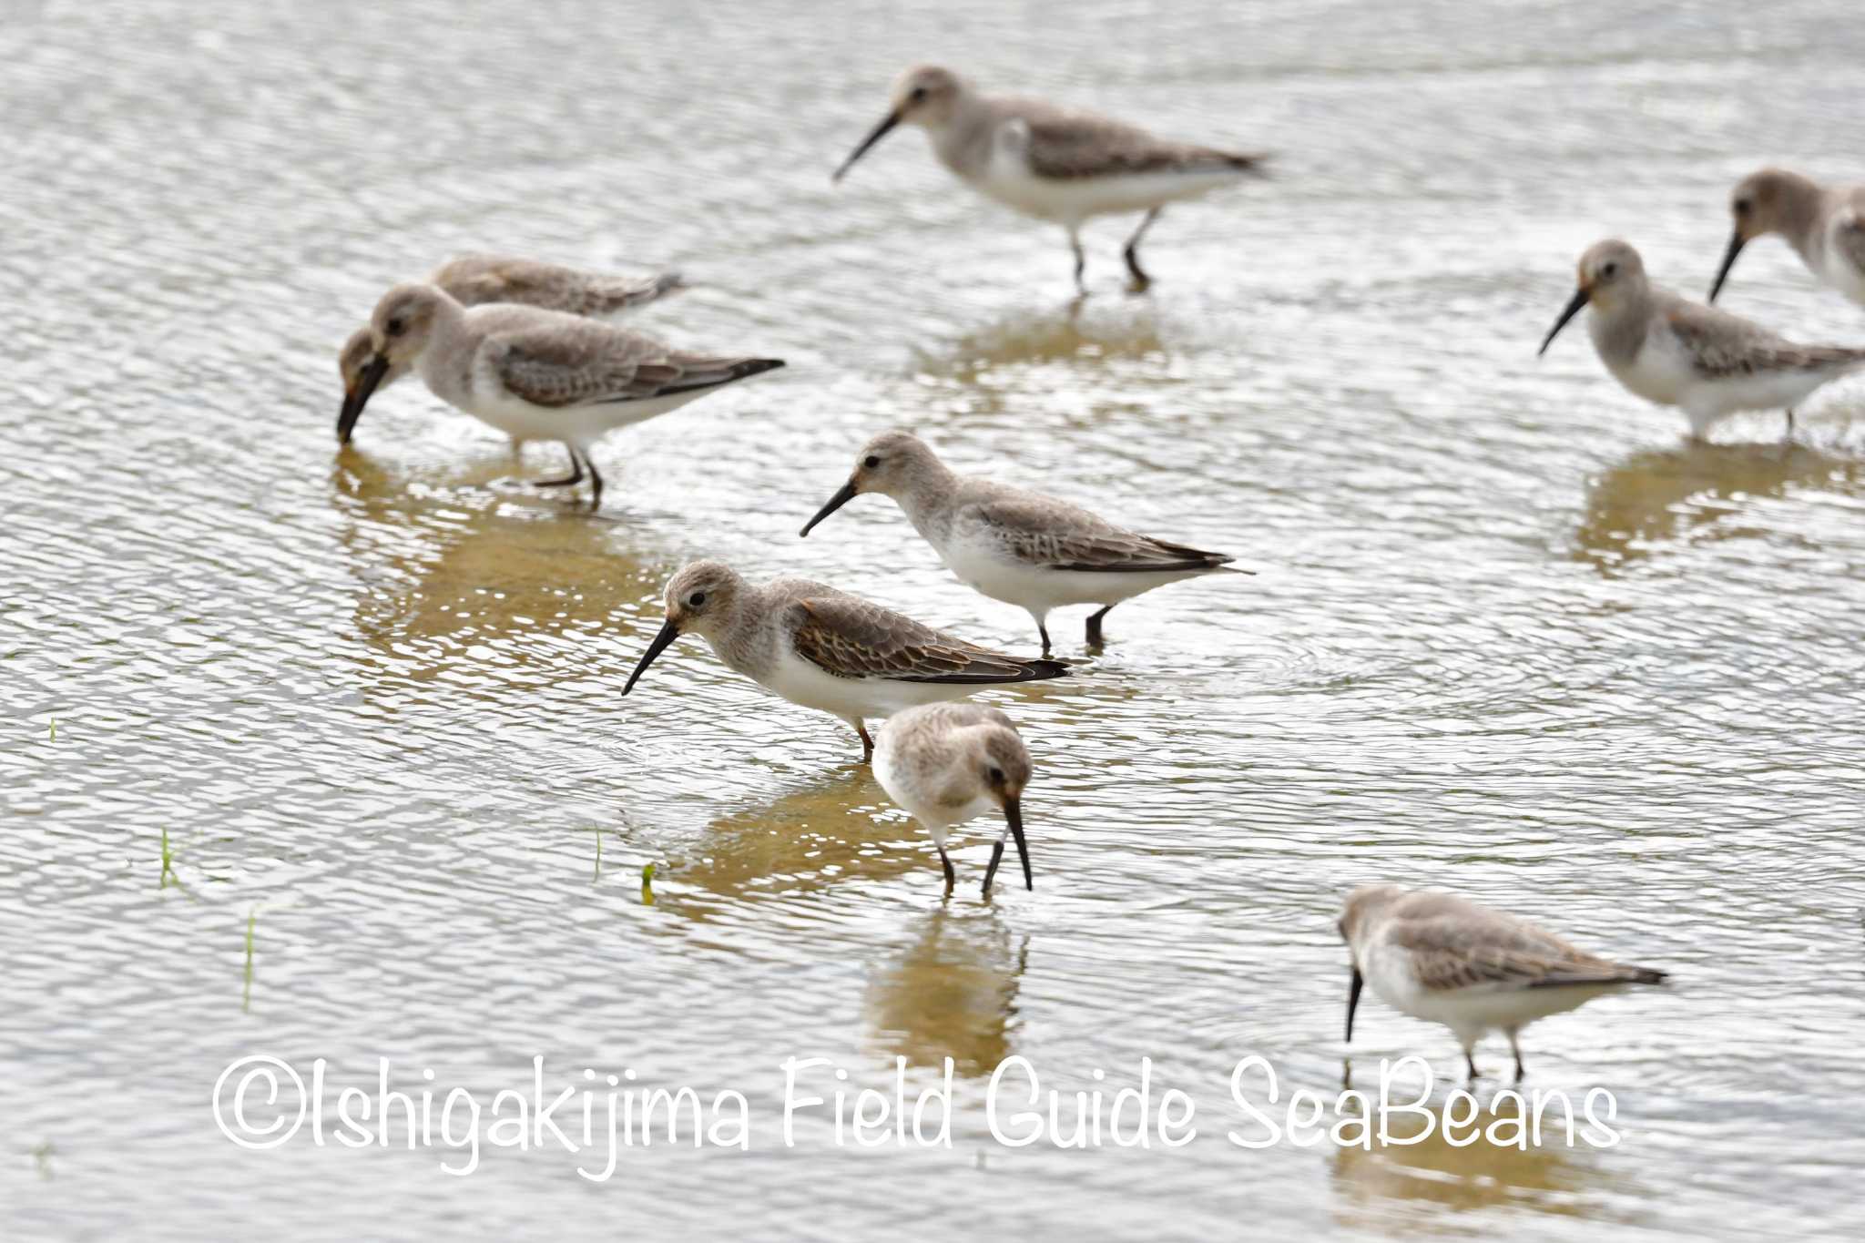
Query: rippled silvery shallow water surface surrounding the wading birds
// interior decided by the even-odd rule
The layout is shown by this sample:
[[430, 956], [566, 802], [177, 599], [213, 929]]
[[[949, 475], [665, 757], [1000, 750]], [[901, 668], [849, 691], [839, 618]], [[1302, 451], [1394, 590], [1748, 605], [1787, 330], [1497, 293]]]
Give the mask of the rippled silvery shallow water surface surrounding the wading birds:
[[[1738, 175], [1865, 175], [1852, 6], [0, 11], [7, 1237], [1858, 1236], [1865, 382], [1794, 444], [1682, 447], [1583, 334], [1535, 358], [1587, 242], [1701, 294]], [[912, 60], [1276, 177], [1169, 211], [1149, 296], [1128, 222], [1091, 225], [1071, 307], [1061, 233], [918, 134], [830, 186]], [[606, 442], [597, 518], [418, 384], [339, 453], [336, 345], [461, 250], [681, 265], [638, 326], [789, 369]], [[1725, 300], [1865, 337], [1777, 242]], [[977, 900], [975, 826], [942, 904], [847, 731], [696, 639], [619, 695], [698, 555], [1028, 649], [884, 499], [796, 539], [891, 425], [1257, 570], [990, 697], [1039, 770], [1035, 893]], [[1619, 1146], [1225, 1141], [1238, 1059], [1339, 1088], [1367, 880], [1675, 971], [1527, 1036]], [[1360, 1086], [1460, 1070], [1375, 1001], [1352, 1047]], [[627, 1070], [742, 1092], [755, 1135], [606, 1183], [246, 1152], [211, 1094], [256, 1053], [325, 1059], [332, 1101], [377, 1059], [485, 1101], [533, 1057]], [[951, 1057], [951, 1148], [837, 1148], [822, 1109], [785, 1148], [793, 1055], [819, 1096]], [[1000, 1144], [1013, 1055], [1071, 1094], [1151, 1059], [1197, 1139]]]

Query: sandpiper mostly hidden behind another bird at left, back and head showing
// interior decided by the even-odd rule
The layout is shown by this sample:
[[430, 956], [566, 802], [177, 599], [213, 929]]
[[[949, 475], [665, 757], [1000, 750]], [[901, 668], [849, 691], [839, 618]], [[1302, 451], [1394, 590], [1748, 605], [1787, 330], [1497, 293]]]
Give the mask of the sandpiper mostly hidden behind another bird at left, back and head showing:
[[[517, 302], [587, 319], [615, 319], [686, 287], [679, 272], [615, 276], [511, 255], [457, 255], [435, 268], [427, 283], [446, 289], [461, 306]], [[373, 356], [375, 341], [364, 324], [338, 352], [345, 401], [356, 391]], [[408, 375], [407, 363], [390, 367], [377, 380], [375, 391], [380, 393], [405, 375]]]

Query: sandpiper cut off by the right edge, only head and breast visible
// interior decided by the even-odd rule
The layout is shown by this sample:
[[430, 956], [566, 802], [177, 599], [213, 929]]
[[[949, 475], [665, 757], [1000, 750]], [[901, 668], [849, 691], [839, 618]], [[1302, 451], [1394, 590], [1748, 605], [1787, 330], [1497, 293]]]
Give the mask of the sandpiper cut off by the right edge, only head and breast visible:
[[1742, 248], [1779, 233], [1822, 285], [1865, 306], [1865, 186], [1822, 186], [1785, 168], [1764, 168], [1736, 184], [1729, 214], [1736, 229], [1710, 285], [1710, 302]]

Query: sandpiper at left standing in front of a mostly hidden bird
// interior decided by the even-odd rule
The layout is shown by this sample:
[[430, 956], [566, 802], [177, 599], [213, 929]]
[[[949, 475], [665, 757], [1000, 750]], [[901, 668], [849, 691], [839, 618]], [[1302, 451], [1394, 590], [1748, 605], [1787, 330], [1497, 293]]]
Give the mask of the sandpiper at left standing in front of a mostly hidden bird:
[[591, 509], [602, 475], [589, 447], [602, 434], [666, 414], [735, 380], [781, 367], [781, 358], [712, 356], [532, 306], [464, 307], [436, 285], [395, 285], [369, 319], [371, 358], [338, 414], [338, 442], [392, 367], [414, 367], [435, 397], [522, 440], [558, 440], [571, 455], [565, 479], [589, 471]]

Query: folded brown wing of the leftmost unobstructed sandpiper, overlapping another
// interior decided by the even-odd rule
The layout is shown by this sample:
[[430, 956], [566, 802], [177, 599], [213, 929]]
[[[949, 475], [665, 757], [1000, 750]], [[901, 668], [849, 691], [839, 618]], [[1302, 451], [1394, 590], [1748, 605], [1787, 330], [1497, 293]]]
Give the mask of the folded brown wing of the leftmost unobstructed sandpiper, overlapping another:
[[500, 339], [498, 375], [535, 406], [647, 401], [746, 375], [744, 358], [684, 354], [608, 324], [552, 324]]

